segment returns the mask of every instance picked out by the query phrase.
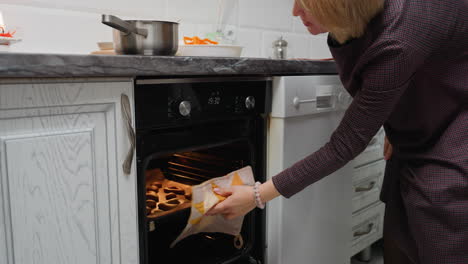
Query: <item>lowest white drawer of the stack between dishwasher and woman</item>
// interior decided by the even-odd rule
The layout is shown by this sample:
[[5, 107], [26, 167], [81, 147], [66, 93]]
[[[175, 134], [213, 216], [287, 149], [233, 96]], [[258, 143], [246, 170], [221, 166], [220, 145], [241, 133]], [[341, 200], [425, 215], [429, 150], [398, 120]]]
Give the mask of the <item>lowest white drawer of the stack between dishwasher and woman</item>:
[[385, 205], [381, 202], [353, 215], [351, 256], [372, 245], [383, 235]]

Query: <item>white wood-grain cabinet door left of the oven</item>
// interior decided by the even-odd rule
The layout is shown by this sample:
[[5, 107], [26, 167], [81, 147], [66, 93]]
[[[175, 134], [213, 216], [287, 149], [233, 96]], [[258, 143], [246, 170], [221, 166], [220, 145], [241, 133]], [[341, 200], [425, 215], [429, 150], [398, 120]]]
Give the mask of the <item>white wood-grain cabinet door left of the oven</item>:
[[138, 263], [122, 94], [131, 80], [0, 84], [0, 263]]

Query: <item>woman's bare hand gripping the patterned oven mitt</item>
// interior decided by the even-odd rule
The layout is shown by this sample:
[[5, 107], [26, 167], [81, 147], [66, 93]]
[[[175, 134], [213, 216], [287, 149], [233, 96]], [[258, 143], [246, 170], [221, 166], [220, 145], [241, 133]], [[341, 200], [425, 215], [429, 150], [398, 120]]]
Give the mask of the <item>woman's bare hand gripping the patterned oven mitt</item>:
[[252, 186], [232, 186], [228, 189], [214, 189], [226, 200], [213, 206], [206, 215], [221, 214], [225, 219], [234, 219], [246, 215], [256, 207]]

